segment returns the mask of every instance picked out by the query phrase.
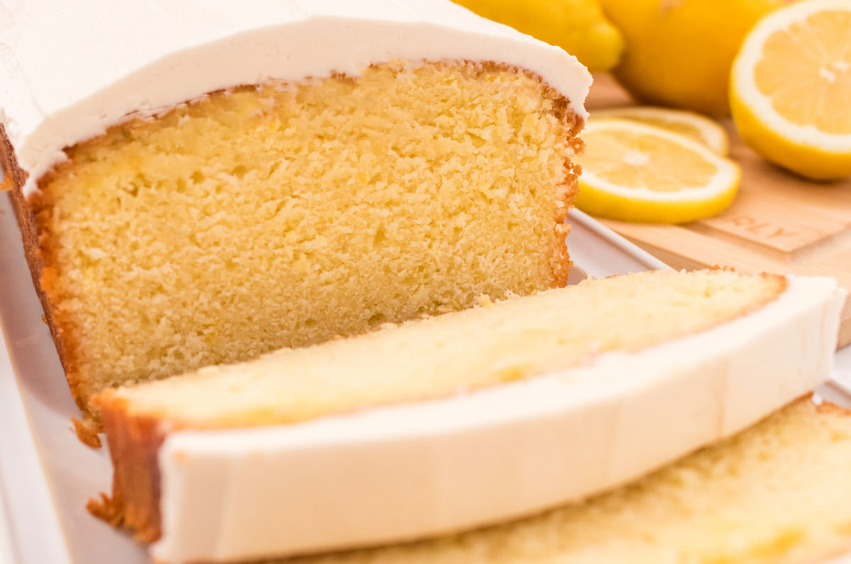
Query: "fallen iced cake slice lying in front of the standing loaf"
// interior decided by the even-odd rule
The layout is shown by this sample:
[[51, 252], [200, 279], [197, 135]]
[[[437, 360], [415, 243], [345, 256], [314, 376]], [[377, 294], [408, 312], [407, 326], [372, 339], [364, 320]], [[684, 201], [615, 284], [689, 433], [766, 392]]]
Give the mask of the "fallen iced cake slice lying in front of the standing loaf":
[[421, 538], [617, 486], [829, 374], [833, 279], [659, 271], [96, 396], [157, 561]]

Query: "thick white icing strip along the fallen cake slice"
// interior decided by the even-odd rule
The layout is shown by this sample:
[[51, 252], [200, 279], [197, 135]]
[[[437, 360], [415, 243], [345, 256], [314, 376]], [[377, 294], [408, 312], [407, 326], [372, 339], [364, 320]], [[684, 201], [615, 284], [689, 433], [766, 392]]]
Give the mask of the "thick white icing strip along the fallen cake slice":
[[155, 560], [250, 561], [420, 538], [620, 485], [830, 374], [844, 291], [789, 279], [753, 314], [635, 354], [445, 400], [160, 449]]

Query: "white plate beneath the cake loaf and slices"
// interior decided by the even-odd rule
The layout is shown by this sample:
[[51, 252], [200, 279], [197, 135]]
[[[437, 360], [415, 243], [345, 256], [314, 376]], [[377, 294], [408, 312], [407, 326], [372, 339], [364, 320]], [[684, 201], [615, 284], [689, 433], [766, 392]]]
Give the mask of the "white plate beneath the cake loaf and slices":
[[[570, 283], [665, 265], [579, 211], [568, 237]], [[89, 515], [111, 490], [106, 448], [83, 446], [71, 399], [26, 267], [9, 201], [0, 197], [0, 563], [148, 564], [145, 550]], [[848, 381], [851, 382], [851, 375]], [[826, 391], [825, 394], [831, 394]], [[840, 392], [833, 392], [840, 394]]]

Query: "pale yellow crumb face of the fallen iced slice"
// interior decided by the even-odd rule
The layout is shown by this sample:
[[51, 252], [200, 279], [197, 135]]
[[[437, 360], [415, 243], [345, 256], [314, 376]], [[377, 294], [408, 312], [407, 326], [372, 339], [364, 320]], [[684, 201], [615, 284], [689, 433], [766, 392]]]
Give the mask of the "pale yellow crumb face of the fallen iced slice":
[[107, 390], [107, 411], [172, 429], [294, 423], [439, 398], [556, 372], [607, 351], [637, 351], [762, 307], [785, 279], [656, 271], [544, 291], [409, 321], [237, 365]]

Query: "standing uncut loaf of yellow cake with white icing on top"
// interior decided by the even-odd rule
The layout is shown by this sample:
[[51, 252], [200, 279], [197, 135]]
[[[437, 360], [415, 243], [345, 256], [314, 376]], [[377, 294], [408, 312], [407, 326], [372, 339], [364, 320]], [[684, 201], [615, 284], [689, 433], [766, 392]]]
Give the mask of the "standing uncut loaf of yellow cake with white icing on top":
[[591, 77], [561, 49], [446, 0], [20, 10], [3, 169], [83, 409], [565, 283]]

